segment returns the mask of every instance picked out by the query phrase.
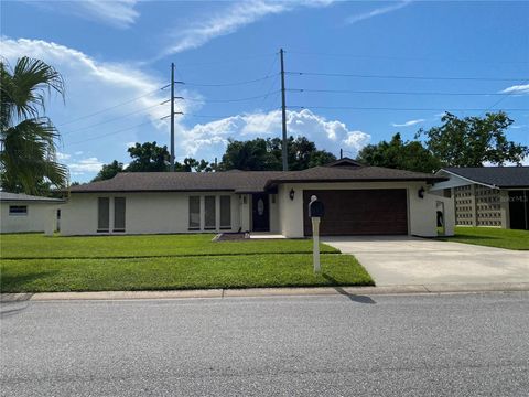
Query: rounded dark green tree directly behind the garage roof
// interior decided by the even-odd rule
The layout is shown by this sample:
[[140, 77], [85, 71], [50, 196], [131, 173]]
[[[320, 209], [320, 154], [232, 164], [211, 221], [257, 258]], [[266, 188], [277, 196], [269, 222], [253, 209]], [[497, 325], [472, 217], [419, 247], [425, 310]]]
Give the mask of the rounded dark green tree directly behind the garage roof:
[[368, 144], [356, 158], [367, 165], [386, 167], [417, 172], [434, 172], [441, 168], [441, 161], [419, 141], [402, 141], [396, 133], [389, 142]]

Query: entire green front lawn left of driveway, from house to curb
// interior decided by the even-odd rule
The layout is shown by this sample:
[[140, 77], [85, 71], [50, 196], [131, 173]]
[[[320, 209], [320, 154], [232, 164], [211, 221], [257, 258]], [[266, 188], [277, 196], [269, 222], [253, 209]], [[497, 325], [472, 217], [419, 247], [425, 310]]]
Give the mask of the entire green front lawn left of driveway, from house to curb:
[[213, 235], [45, 237], [1, 235], [1, 292], [373, 286], [349, 255], [312, 242], [213, 243]]

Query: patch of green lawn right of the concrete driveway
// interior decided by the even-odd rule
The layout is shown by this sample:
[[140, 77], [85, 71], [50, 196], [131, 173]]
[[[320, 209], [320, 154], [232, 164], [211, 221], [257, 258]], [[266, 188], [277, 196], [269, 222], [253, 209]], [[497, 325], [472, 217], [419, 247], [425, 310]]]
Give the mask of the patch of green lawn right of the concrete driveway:
[[458, 226], [455, 228], [455, 236], [440, 237], [440, 239], [497, 248], [529, 249], [528, 230]]

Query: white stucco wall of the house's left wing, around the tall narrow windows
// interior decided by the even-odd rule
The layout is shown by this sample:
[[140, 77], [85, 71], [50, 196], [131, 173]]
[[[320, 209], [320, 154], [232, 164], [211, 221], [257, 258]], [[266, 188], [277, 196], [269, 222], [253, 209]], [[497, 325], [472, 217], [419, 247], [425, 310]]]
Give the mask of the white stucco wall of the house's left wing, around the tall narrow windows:
[[[216, 226], [204, 229], [204, 196], [216, 196]], [[162, 234], [162, 233], [215, 233], [219, 232], [220, 195], [231, 197], [231, 228], [223, 229], [236, 232], [240, 225], [239, 197], [228, 192], [208, 193], [125, 193], [72, 194], [68, 203], [62, 207], [61, 234], [68, 235], [98, 235], [98, 197], [110, 197], [110, 232], [109, 234]], [[188, 229], [188, 197], [201, 196], [201, 229]], [[126, 197], [126, 230], [112, 232], [114, 228], [114, 197]], [[106, 233], [102, 233], [106, 234]]]

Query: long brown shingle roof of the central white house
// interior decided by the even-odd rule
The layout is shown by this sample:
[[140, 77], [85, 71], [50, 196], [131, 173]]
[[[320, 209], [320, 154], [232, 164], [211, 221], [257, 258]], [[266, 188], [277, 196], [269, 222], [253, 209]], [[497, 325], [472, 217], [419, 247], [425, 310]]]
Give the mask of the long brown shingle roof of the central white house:
[[72, 186], [90, 192], [263, 192], [290, 182], [446, 181], [446, 178], [379, 167], [315, 167], [304, 171], [123, 172], [111, 180]]

